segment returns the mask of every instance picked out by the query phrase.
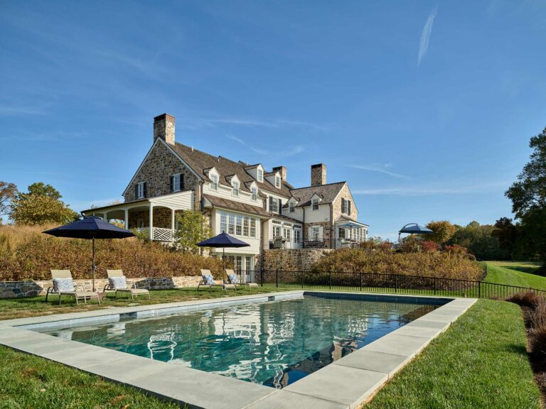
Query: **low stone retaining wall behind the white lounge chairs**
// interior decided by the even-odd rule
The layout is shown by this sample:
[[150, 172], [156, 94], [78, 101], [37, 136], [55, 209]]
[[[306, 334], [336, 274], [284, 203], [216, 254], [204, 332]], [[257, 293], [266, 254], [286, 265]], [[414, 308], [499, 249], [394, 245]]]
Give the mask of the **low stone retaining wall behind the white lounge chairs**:
[[[137, 288], [149, 288], [150, 290], [168, 290], [171, 288], [196, 287], [200, 276], [183, 277], [157, 277], [157, 278], [127, 278], [127, 283], [137, 284]], [[97, 278], [95, 288], [102, 291], [107, 285], [107, 278]], [[75, 285], [83, 285], [85, 291], [92, 290], [92, 280], [74, 280]], [[52, 287], [51, 280], [38, 281], [1, 281], [0, 298], [36, 297], [45, 295], [48, 287]]]

